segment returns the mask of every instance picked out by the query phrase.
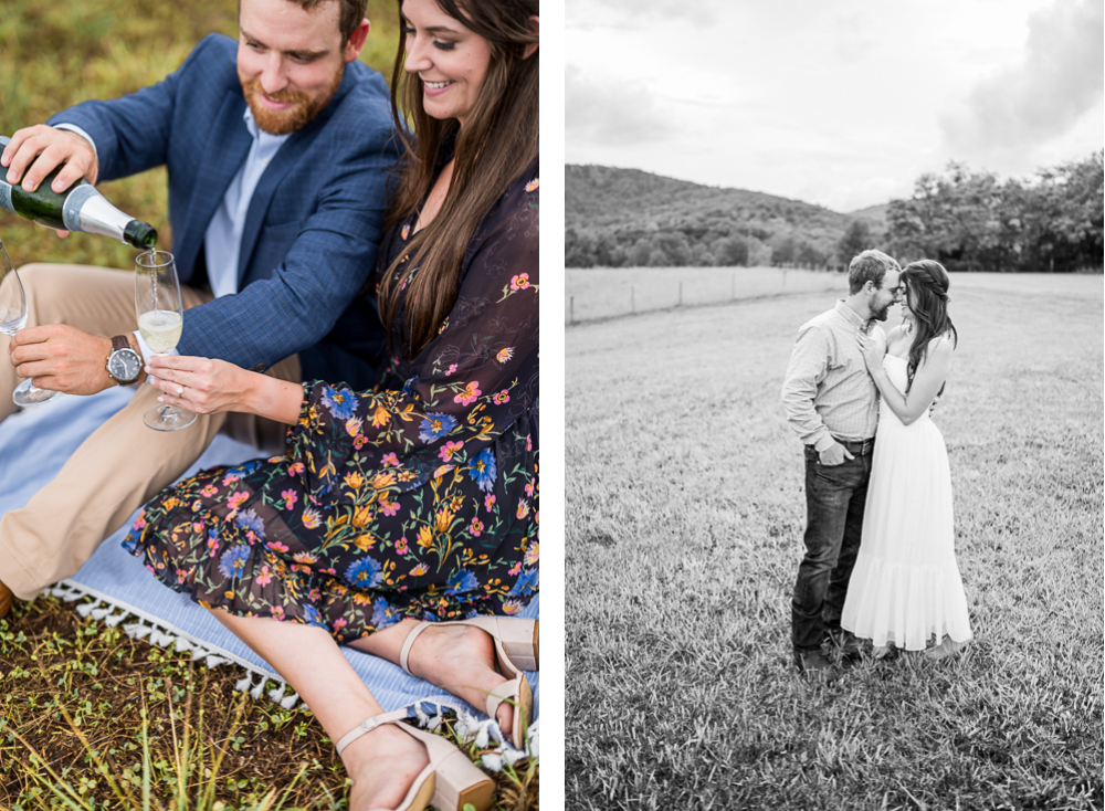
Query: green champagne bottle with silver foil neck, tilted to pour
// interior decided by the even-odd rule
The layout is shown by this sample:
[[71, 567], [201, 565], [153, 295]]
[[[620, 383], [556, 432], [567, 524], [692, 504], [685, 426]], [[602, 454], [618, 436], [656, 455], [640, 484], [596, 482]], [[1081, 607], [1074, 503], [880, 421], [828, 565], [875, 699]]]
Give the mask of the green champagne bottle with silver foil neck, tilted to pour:
[[[0, 135], [0, 150], [11, 138]], [[22, 185], [12, 186], [0, 175], [0, 209], [60, 231], [83, 231], [90, 234], [113, 236], [129, 243], [139, 251], [152, 250], [157, 231], [149, 223], [139, 222], [107, 202], [107, 198], [84, 178], [60, 194], [50, 183], [61, 171], [50, 172], [34, 191]]]

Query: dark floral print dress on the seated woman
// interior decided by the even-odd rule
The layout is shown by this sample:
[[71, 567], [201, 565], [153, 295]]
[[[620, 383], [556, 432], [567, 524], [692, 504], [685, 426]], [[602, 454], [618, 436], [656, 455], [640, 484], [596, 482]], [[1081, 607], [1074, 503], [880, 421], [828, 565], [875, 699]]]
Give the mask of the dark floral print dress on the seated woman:
[[284, 456], [166, 488], [124, 547], [201, 605], [339, 642], [520, 611], [539, 581], [538, 186], [535, 161], [484, 218], [455, 305], [417, 358], [392, 360], [394, 388], [304, 383]]

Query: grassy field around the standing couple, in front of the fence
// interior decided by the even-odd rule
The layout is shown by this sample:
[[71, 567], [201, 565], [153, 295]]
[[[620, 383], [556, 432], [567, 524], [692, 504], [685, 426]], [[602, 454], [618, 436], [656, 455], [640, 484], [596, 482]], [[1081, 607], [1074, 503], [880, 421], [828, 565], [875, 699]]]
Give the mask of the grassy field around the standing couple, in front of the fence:
[[976, 641], [827, 685], [790, 662], [806, 509], [779, 392], [843, 292], [568, 329], [569, 808], [1102, 808], [1102, 277], [950, 294], [934, 420]]

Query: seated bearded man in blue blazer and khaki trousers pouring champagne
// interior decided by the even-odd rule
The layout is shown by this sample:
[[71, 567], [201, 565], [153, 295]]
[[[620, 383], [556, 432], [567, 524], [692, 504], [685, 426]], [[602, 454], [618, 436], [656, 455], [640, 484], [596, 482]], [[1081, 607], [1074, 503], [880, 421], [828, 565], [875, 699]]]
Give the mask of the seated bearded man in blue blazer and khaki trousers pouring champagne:
[[[236, 43], [209, 35], [156, 85], [17, 131], [0, 166], [32, 190], [61, 166], [54, 191], [167, 167], [187, 308], [177, 350], [369, 388], [385, 336], [355, 299], [376, 260], [397, 151], [387, 84], [357, 61], [366, 4], [241, 0]], [[20, 378], [75, 394], [144, 379], [131, 273], [38, 264], [20, 275], [30, 316], [10, 341], [0, 337], [11, 360], [0, 361], [0, 419]], [[158, 394], [139, 387], [53, 482], [0, 519], [0, 617], [12, 592], [31, 599], [76, 572], [220, 429], [282, 452], [282, 426], [242, 414], [151, 431], [143, 413]]]

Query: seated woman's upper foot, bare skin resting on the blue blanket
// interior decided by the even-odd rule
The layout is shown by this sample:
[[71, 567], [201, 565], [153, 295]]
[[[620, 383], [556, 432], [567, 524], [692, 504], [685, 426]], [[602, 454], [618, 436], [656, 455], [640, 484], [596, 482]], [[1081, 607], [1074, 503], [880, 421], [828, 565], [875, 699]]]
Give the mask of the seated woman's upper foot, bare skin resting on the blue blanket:
[[[495, 670], [494, 640], [478, 628], [467, 625], [430, 624], [414, 640], [407, 662], [415, 676], [449, 691], [473, 707], [483, 707], [488, 694], [507, 681]], [[495, 720], [507, 736], [514, 724], [514, 712], [506, 702], [496, 712]]]

